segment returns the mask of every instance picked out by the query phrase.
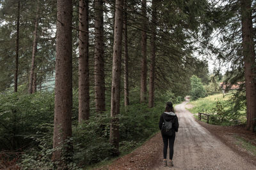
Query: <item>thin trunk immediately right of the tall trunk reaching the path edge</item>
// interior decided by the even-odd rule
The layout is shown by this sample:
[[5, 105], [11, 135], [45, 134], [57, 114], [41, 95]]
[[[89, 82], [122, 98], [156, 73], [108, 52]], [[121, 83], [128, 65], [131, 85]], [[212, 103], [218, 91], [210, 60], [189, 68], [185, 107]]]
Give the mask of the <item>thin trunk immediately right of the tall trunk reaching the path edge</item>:
[[127, 0], [124, 0], [124, 106], [129, 105]]

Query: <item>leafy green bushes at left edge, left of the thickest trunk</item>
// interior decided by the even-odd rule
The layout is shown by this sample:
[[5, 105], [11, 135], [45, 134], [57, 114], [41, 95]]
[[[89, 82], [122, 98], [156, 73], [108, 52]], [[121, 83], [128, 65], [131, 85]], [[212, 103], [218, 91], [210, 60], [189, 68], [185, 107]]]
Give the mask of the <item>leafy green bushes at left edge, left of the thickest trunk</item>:
[[[53, 121], [52, 93], [22, 94], [6, 92], [0, 95], [0, 149], [17, 150], [28, 145], [30, 134], [38, 126]], [[3, 123], [4, 122], [4, 123]]]

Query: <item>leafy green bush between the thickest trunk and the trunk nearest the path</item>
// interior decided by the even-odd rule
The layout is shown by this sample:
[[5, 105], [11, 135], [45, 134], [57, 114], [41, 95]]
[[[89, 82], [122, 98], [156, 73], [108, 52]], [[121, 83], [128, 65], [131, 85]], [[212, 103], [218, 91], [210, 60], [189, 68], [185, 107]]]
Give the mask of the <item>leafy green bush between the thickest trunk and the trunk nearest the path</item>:
[[74, 161], [79, 166], [95, 164], [111, 157], [107, 114], [97, 114], [73, 127]]

